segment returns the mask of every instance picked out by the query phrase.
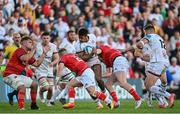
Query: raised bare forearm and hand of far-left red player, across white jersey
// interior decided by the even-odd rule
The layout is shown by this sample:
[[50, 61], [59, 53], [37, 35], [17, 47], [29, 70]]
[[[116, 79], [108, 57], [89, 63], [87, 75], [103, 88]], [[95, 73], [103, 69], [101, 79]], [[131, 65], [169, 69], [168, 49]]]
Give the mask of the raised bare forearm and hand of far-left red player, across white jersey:
[[41, 63], [43, 62], [46, 53], [50, 50], [50, 47], [44, 47], [43, 48], [43, 53], [41, 54], [41, 56], [39, 57], [38, 60], [36, 60], [32, 65], [35, 67], [39, 67], [41, 65]]

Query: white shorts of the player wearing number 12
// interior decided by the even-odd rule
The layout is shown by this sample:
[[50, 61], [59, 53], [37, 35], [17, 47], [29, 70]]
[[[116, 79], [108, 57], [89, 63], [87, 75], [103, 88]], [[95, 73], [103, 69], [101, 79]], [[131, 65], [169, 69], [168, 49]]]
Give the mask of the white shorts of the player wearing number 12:
[[166, 62], [151, 62], [146, 64], [146, 73], [151, 73], [156, 76], [161, 76], [165, 73], [169, 64]]

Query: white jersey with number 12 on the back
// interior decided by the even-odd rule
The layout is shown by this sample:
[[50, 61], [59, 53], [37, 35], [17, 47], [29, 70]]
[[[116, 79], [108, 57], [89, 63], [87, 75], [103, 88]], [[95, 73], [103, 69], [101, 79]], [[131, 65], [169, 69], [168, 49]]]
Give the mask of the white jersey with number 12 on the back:
[[150, 62], [167, 62], [169, 63], [168, 55], [165, 49], [164, 40], [157, 34], [148, 34], [144, 37], [149, 41], [151, 48]]

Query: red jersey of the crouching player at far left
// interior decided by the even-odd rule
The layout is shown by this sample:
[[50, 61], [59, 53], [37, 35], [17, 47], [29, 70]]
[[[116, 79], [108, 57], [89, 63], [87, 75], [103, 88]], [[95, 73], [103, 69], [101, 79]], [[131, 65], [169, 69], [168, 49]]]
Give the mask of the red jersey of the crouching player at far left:
[[3, 73], [3, 77], [6, 77], [10, 74], [20, 75], [21, 72], [24, 71], [26, 64], [33, 64], [35, 62], [34, 57], [29, 59], [29, 61], [27, 61], [27, 62], [21, 61], [20, 57], [25, 54], [27, 54], [27, 52], [23, 48], [18, 48], [13, 53], [11, 59], [9, 60], [8, 64], [6, 65], [6, 69]]

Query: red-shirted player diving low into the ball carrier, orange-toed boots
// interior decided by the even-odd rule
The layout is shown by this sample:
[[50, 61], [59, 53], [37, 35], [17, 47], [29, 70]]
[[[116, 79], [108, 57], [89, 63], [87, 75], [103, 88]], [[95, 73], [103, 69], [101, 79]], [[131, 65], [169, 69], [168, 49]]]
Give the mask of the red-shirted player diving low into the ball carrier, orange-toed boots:
[[111, 109], [114, 108], [112, 102], [104, 93], [96, 90], [95, 75], [88, 64], [75, 54], [67, 54], [65, 49], [59, 50], [59, 66], [64, 65], [77, 74], [77, 77], [67, 83], [65, 91], [68, 91], [69, 103], [63, 105], [63, 108], [69, 109], [75, 106], [75, 91], [73, 88], [84, 86], [93, 100], [104, 101]]

